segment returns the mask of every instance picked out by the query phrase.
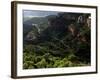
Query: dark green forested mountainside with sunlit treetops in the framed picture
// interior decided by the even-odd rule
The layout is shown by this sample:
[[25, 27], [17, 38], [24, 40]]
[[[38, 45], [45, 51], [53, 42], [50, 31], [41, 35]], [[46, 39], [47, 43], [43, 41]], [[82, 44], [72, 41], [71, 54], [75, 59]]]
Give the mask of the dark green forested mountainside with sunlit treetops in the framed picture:
[[41, 19], [41, 23], [37, 20], [40, 32], [35, 25], [24, 31], [23, 68], [90, 65], [90, 27], [86, 22], [77, 22], [81, 15], [86, 19], [89, 16], [81, 13], [50, 15]]

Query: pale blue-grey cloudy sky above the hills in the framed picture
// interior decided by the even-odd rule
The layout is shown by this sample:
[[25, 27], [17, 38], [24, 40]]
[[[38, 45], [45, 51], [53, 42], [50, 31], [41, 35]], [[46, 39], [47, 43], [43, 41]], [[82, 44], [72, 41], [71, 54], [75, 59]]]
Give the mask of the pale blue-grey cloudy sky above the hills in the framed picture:
[[36, 11], [36, 10], [23, 10], [24, 17], [44, 17], [48, 15], [57, 15], [58, 12], [54, 11]]

